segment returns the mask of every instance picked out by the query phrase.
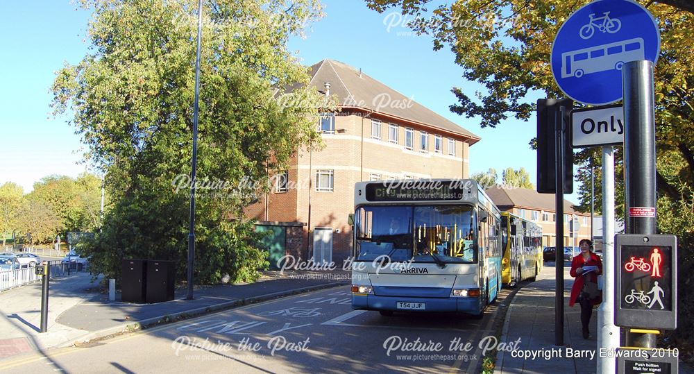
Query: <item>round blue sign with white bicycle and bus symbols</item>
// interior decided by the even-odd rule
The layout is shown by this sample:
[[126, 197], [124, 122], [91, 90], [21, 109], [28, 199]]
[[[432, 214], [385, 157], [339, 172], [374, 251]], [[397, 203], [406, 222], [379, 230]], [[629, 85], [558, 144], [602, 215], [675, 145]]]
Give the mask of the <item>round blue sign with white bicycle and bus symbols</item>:
[[660, 52], [660, 32], [641, 4], [593, 1], [571, 15], [552, 44], [552, 75], [575, 101], [604, 105], [622, 99], [622, 67]]

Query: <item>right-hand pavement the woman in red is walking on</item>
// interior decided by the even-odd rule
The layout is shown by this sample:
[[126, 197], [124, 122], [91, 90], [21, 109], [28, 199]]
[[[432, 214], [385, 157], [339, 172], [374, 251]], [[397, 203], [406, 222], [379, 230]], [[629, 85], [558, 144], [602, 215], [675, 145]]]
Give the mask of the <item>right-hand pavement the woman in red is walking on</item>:
[[[536, 282], [521, 284], [522, 288], [511, 301], [500, 341], [514, 343], [520, 339], [520, 343], [514, 346], [516, 352], [498, 351], [495, 373], [597, 372], [597, 306], [589, 326], [590, 337], [583, 339], [580, 306], [568, 306], [573, 285], [569, 269], [567, 262], [564, 267], [564, 345], [555, 345], [555, 266], [545, 263]], [[524, 354], [518, 354], [520, 351]], [[694, 371], [679, 362], [679, 373]]]

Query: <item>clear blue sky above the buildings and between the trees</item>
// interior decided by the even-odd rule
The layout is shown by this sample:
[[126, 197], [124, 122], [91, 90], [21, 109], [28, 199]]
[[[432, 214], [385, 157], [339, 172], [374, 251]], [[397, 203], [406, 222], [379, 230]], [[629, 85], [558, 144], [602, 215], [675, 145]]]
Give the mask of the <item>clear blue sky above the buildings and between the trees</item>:
[[[473, 96], [480, 86], [466, 82], [448, 49], [432, 50], [428, 36], [408, 32], [394, 10], [383, 14], [362, 1], [324, 0], [325, 17], [312, 24], [306, 38], [292, 37], [289, 49], [305, 65], [332, 58], [362, 68], [382, 83], [427, 106], [482, 137], [470, 148], [471, 173], [490, 167], [525, 167], [535, 181], [535, 152], [528, 142], [535, 134], [535, 119], [509, 119], [498, 128], [480, 128], [477, 119], [453, 114], [451, 87], [463, 87]], [[67, 117], [53, 119], [51, 94], [54, 71], [64, 61], [74, 64], [87, 51], [85, 30], [89, 14], [76, 10], [70, 0], [2, 1], [0, 45], [6, 51], [0, 70], [1, 138], [3, 161], [0, 184], [11, 180], [31, 190], [33, 183], [51, 173], [77, 176], [87, 166], [80, 137]], [[388, 27], [389, 24], [395, 24]], [[533, 101], [537, 97], [531, 98]], [[577, 191], [577, 186], [575, 186]], [[577, 202], [577, 195], [568, 196]]]

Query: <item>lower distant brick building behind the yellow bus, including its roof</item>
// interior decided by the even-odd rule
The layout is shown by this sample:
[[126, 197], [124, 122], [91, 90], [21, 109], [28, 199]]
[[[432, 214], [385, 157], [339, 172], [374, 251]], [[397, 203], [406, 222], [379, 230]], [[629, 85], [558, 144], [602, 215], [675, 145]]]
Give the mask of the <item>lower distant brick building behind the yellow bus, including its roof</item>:
[[[534, 189], [491, 187], [486, 190], [494, 204], [502, 212], [510, 212], [525, 218], [542, 228], [542, 245], [555, 246], [555, 195], [539, 194]], [[570, 232], [577, 218], [575, 234]], [[564, 246], [578, 246], [581, 239], [591, 239], [591, 214], [577, 212], [564, 200]]]

